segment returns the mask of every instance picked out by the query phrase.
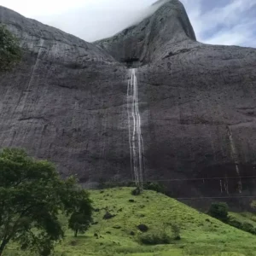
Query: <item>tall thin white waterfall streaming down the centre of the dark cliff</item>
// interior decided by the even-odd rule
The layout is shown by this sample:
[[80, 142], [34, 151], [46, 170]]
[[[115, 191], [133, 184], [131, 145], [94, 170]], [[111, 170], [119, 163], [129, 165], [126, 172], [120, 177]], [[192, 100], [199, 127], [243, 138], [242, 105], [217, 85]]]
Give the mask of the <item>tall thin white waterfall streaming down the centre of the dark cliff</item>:
[[131, 172], [138, 187], [143, 188], [143, 137], [141, 116], [138, 108], [136, 68], [131, 69], [127, 88], [127, 112], [129, 143], [131, 152]]

